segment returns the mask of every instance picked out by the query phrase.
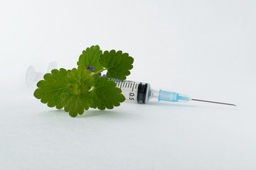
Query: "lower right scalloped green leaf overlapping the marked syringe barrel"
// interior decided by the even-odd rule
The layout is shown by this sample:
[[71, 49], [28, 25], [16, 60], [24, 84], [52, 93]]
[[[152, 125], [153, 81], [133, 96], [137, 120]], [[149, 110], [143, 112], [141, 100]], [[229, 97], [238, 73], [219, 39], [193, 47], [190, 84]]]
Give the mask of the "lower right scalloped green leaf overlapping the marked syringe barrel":
[[95, 74], [95, 86], [90, 91], [92, 97], [90, 107], [104, 110], [105, 108], [112, 109], [114, 106], [120, 106], [120, 103], [125, 100], [121, 92], [114, 81]]

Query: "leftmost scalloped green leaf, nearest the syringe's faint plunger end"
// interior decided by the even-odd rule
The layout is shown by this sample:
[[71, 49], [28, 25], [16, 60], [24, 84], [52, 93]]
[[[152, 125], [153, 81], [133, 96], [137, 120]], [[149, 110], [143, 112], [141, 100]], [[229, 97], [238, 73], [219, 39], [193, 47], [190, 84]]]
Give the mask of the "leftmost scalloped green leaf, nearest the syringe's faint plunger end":
[[53, 69], [51, 73], [45, 74], [44, 80], [38, 82], [34, 96], [41, 99], [42, 103], [47, 103], [50, 108], [54, 106], [58, 109], [63, 108], [60, 96], [68, 88], [68, 82], [65, 81], [68, 72], [70, 71], [65, 69]]

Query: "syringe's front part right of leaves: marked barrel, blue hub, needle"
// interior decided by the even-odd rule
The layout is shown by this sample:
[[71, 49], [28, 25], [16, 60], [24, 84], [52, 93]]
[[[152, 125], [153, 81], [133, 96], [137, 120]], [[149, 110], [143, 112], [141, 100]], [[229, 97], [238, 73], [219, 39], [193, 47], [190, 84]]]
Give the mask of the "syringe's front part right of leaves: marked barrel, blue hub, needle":
[[125, 101], [134, 103], [148, 103], [151, 98], [156, 98], [158, 101], [171, 101], [171, 102], [188, 102], [188, 101], [203, 101], [209, 103], [225, 104], [230, 106], [236, 106], [230, 103], [220, 103], [215, 101], [204, 101], [195, 98], [190, 98], [185, 94], [178, 94], [171, 91], [155, 91], [151, 89], [151, 85], [148, 83], [142, 83], [137, 81], [127, 81], [119, 79], [111, 79], [117, 84], [117, 87], [122, 90], [122, 94], [125, 97]]

